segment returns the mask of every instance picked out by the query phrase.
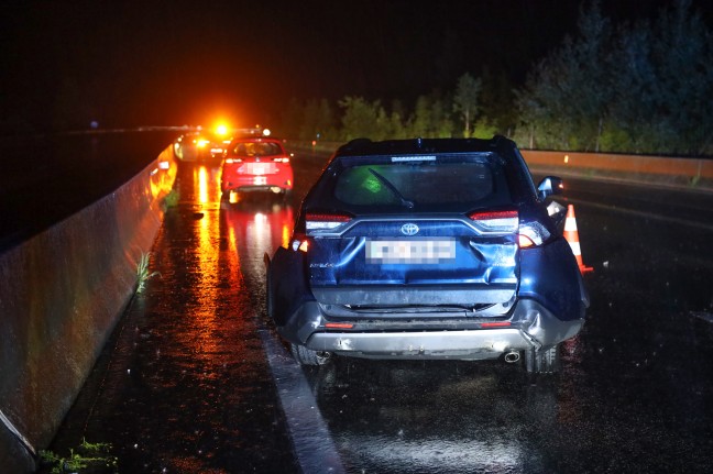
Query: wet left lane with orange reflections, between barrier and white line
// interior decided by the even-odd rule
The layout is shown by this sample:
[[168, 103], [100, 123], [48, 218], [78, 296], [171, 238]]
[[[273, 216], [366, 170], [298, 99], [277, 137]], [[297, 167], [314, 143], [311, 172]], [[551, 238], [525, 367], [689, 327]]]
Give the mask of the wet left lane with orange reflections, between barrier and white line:
[[109, 442], [122, 473], [297, 472], [256, 295], [243, 278], [256, 262], [239, 252], [255, 243], [263, 265], [292, 228], [292, 208], [221, 209], [218, 179], [215, 167], [180, 167], [179, 205], [151, 257], [157, 274], [131, 302], [53, 450]]

